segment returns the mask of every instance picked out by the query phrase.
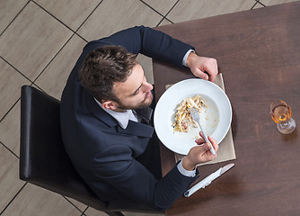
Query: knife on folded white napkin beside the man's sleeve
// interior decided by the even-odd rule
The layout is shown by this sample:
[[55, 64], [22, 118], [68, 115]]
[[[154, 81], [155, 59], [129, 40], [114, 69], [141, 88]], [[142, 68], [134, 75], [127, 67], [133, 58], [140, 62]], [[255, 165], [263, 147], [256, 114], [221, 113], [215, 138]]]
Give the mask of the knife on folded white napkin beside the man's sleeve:
[[208, 184], [210, 184], [212, 181], [214, 181], [220, 175], [224, 174], [226, 171], [228, 171], [233, 166], [234, 166], [234, 163], [228, 164], [226, 166], [219, 168], [218, 170], [216, 170], [216, 172], [212, 173], [211, 175], [208, 175], [205, 179], [200, 181], [198, 184], [195, 184], [188, 191], [183, 193], [184, 196], [189, 197], [192, 193], [197, 192], [200, 188], [205, 188]]

